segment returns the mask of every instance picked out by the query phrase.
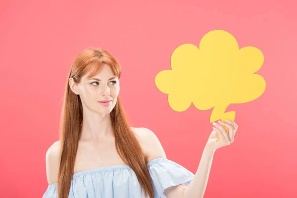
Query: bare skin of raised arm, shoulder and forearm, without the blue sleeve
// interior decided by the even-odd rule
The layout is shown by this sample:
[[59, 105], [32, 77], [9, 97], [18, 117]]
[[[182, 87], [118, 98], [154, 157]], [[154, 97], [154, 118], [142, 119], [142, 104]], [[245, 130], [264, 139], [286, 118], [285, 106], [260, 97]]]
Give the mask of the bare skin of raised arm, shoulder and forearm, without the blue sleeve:
[[[223, 126], [229, 130], [227, 131]], [[217, 148], [230, 145], [234, 141], [237, 129], [238, 126], [233, 121], [219, 122], [219, 124], [214, 123], [213, 131], [202, 152], [200, 163], [193, 180], [187, 187], [181, 184], [165, 189], [164, 195], [166, 198], [203, 198], [214, 152]], [[148, 156], [148, 160], [157, 157], [166, 157], [159, 140], [153, 132], [142, 128], [137, 134], [139, 134], [141, 145]], [[219, 141], [217, 141], [218, 137], [220, 138]]]

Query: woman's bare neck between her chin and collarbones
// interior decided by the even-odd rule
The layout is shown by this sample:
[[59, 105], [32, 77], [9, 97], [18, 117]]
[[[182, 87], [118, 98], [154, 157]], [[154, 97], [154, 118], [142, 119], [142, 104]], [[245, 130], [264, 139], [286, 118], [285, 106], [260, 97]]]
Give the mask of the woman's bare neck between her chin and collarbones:
[[83, 111], [81, 140], [103, 140], [114, 136], [111, 126], [110, 113]]

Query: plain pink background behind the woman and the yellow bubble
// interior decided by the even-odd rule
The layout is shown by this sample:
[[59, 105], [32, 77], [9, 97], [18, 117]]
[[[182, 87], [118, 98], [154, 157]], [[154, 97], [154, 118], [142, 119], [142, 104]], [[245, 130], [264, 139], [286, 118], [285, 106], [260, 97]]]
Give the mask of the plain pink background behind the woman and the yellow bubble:
[[[236, 141], [217, 150], [205, 198], [293, 198], [297, 184], [297, 14], [291, 0], [0, 2], [0, 197], [41, 198], [45, 154], [58, 140], [67, 73], [88, 47], [121, 63], [120, 97], [134, 127], [154, 131], [167, 157], [196, 173], [211, 110], [175, 112], [155, 75], [175, 48], [223, 29], [264, 54], [267, 83], [254, 101], [230, 105]], [[218, 87], [218, 89], [224, 89]], [[215, 90], [213, 90], [215, 91]]]

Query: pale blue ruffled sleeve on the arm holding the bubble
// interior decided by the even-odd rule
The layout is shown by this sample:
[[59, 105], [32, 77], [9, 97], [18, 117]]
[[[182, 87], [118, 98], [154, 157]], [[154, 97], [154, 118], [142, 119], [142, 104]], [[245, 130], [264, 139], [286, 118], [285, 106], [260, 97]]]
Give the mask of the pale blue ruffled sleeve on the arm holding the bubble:
[[188, 186], [194, 178], [194, 174], [183, 166], [167, 158], [157, 158], [147, 164], [152, 181], [154, 198], [166, 198], [164, 190], [185, 184]]

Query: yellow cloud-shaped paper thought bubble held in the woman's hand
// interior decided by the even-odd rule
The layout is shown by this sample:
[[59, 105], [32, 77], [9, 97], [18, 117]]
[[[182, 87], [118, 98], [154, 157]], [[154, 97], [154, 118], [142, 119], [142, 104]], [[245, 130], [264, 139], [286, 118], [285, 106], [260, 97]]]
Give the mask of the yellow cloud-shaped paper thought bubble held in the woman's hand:
[[263, 62], [259, 49], [239, 49], [230, 33], [213, 30], [202, 37], [199, 48], [192, 44], [176, 48], [171, 70], [159, 72], [155, 85], [168, 94], [169, 105], [175, 111], [185, 111], [193, 102], [199, 110], [213, 108], [210, 122], [234, 121], [235, 111], [225, 112], [229, 104], [246, 103], [264, 93], [264, 78], [254, 74]]

